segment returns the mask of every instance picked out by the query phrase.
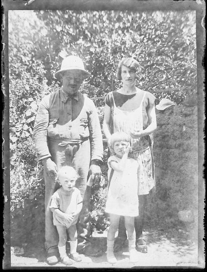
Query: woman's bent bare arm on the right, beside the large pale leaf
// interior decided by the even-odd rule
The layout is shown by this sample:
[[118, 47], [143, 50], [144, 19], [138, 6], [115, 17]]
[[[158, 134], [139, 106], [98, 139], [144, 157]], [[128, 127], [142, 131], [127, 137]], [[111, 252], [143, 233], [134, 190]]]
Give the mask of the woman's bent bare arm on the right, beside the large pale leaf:
[[147, 110], [147, 116], [149, 120], [149, 126], [144, 130], [140, 131], [131, 131], [130, 135], [132, 138], [139, 138], [146, 135], [153, 133], [157, 129], [157, 121], [156, 121], [156, 114], [155, 114], [155, 105], [152, 105]]

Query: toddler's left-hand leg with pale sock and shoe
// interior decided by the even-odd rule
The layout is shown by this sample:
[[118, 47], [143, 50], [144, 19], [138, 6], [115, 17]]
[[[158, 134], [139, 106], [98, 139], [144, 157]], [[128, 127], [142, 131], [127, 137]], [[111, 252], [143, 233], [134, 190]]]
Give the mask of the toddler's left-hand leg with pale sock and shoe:
[[70, 266], [73, 263], [68, 258], [66, 254], [66, 241], [67, 241], [67, 233], [66, 233], [66, 227], [65, 226], [56, 226], [58, 235], [59, 235], [59, 243], [58, 243], [58, 250], [60, 253], [60, 258], [62, 259], [62, 262], [66, 266]]

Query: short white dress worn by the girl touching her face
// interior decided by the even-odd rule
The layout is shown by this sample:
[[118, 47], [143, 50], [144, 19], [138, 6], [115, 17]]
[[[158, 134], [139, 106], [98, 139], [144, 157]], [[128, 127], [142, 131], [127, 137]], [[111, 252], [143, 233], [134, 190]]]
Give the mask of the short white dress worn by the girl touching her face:
[[[120, 216], [135, 217], [138, 210], [138, 163], [128, 158], [122, 172], [114, 171], [110, 162], [120, 162], [120, 158], [111, 156], [108, 159], [108, 193], [105, 204], [105, 212]], [[111, 175], [111, 171], [113, 174]], [[110, 178], [111, 176], [111, 178]]]

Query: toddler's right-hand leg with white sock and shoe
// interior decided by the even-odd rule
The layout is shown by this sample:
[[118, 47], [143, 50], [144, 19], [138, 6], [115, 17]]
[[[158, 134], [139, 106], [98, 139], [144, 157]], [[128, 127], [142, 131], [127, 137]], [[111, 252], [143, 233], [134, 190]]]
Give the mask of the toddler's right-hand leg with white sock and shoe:
[[82, 258], [78, 255], [76, 252], [78, 240], [77, 240], [77, 228], [76, 225], [72, 225], [67, 229], [67, 232], [69, 234], [69, 237], [71, 239], [70, 241], [70, 258], [73, 259], [76, 262], [81, 262]]

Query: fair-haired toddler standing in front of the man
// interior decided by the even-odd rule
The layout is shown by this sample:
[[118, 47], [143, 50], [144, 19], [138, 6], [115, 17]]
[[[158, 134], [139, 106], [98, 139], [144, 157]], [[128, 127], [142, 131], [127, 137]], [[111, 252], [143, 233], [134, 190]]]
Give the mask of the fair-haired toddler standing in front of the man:
[[[78, 174], [73, 167], [64, 166], [57, 173], [57, 181], [61, 185], [53, 195], [50, 209], [53, 213], [53, 224], [56, 226], [59, 243], [58, 249], [63, 264], [72, 265], [73, 259], [81, 262], [82, 259], [76, 252], [77, 229], [76, 223], [83, 207], [80, 191], [75, 188]], [[66, 254], [67, 233], [70, 237], [70, 259]]]

